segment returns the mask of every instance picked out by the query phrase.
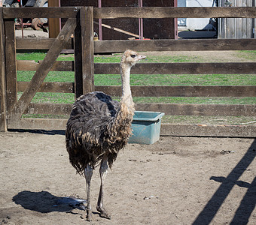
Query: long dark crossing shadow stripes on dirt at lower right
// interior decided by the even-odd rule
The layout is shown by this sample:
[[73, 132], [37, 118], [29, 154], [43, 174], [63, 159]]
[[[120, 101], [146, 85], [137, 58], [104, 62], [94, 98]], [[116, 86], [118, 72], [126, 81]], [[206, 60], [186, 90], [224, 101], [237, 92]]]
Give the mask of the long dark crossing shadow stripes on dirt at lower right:
[[242, 159], [237, 163], [229, 175], [226, 178], [212, 176], [210, 179], [221, 182], [218, 190], [213, 194], [212, 198], [206, 204], [203, 211], [197, 216], [194, 220], [194, 225], [196, 224], [209, 224], [212, 219], [217, 214], [219, 208], [221, 208], [222, 203], [227, 198], [231, 189], [234, 185], [239, 185], [240, 187], [248, 188], [245, 196], [240, 202], [239, 208], [236, 210], [236, 214], [233, 217], [233, 220], [230, 224], [246, 224], [248, 219], [251, 216], [251, 212], [254, 210], [256, 203], [256, 178], [251, 184], [248, 184], [245, 181], [239, 181], [239, 177], [242, 173], [247, 170], [247, 167], [254, 160], [256, 156], [256, 139], [252, 142], [251, 147], [248, 148], [248, 151], [242, 157]]

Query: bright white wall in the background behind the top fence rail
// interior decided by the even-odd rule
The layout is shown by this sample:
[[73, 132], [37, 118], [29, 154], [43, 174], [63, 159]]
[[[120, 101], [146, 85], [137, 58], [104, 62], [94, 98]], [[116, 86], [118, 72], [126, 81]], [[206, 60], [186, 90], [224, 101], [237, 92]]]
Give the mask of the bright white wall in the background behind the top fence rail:
[[[184, 0], [178, 0], [178, 2]], [[212, 7], [213, 0], [186, 0], [187, 7]], [[209, 18], [187, 18], [186, 27], [184, 29], [203, 29], [209, 24]], [[179, 27], [181, 28], [181, 27]]]

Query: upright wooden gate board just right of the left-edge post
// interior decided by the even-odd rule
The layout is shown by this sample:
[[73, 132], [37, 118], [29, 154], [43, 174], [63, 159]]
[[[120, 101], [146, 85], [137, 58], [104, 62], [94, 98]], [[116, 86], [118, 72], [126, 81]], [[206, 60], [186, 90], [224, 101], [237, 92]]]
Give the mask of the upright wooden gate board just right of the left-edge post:
[[7, 112], [17, 104], [17, 61], [14, 19], [5, 20], [5, 74]]

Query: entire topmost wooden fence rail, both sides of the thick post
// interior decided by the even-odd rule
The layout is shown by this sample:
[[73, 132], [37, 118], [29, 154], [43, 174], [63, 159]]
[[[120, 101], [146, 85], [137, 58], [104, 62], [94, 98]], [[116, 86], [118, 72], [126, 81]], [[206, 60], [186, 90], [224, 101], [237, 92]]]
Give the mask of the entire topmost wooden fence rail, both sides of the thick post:
[[[6, 7], [4, 19], [76, 18], [83, 7]], [[95, 19], [133, 18], [255, 18], [255, 7], [101, 7], [93, 9]]]

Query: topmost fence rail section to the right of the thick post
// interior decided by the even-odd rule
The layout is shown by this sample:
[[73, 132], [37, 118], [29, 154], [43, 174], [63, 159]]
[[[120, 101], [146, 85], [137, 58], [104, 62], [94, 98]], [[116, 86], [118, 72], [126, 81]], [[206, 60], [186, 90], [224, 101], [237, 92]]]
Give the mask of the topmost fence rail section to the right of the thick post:
[[102, 7], [96, 19], [133, 18], [254, 18], [255, 7]]

